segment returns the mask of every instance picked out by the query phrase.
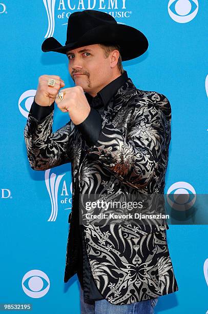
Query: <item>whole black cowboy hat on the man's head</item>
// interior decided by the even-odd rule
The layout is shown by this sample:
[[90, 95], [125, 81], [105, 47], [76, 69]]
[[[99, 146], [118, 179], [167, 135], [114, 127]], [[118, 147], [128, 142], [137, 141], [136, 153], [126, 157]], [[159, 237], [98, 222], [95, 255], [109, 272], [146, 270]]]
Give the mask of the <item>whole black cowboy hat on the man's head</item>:
[[119, 45], [122, 61], [136, 58], [148, 49], [147, 37], [142, 32], [118, 24], [110, 14], [96, 10], [73, 12], [68, 19], [65, 46], [49, 37], [41, 49], [66, 54], [69, 50], [93, 44]]

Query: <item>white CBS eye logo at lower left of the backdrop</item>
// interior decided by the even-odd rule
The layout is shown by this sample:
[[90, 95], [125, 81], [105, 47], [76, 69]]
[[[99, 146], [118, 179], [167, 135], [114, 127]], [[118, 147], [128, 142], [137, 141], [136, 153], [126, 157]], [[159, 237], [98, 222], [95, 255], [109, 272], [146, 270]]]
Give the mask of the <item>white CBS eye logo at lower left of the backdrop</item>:
[[45, 272], [33, 269], [26, 272], [22, 280], [22, 287], [27, 296], [41, 298], [48, 292], [50, 281]]

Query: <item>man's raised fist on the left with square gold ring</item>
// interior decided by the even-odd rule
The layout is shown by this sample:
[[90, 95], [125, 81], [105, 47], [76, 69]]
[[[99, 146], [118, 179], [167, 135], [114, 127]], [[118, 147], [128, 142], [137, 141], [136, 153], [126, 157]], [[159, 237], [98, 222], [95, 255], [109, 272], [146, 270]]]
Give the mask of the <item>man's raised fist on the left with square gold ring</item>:
[[[53, 87], [48, 86], [49, 78], [53, 78], [56, 82]], [[55, 101], [56, 95], [65, 83], [58, 75], [41, 75], [38, 78], [37, 92], [34, 101], [40, 106], [51, 106]]]

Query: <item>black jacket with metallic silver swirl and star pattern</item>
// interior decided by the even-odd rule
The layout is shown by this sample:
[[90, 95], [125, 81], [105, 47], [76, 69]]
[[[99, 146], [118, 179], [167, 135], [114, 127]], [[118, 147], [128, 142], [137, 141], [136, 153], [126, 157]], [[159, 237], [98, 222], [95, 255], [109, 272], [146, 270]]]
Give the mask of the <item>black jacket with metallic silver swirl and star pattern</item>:
[[[164, 192], [171, 141], [167, 97], [139, 90], [128, 78], [103, 113], [96, 114], [101, 131], [95, 144], [71, 120], [53, 133], [53, 110], [39, 122], [29, 113], [24, 131], [32, 169], [72, 163], [65, 282], [77, 272], [77, 222], [83, 214], [76, 208], [78, 190], [82, 196], [107, 201]], [[112, 304], [131, 304], [178, 290], [167, 244], [169, 226], [164, 220], [139, 225], [86, 220], [82, 228], [92, 276], [101, 295]]]

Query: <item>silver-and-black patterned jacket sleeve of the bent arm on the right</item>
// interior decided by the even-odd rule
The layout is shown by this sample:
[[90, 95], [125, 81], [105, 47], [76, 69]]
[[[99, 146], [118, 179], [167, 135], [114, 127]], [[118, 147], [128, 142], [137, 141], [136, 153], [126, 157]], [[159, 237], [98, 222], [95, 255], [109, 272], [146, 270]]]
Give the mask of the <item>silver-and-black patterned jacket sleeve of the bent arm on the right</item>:
[[124, 184], [137, 189], [152, 180], [161, 153], [171, 140], [170, 102], [158, 93], [155, 99], [134, 105], [126, 137], [113, 123], [102, 119], [98, 141], [87, 150]]

